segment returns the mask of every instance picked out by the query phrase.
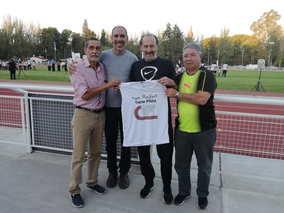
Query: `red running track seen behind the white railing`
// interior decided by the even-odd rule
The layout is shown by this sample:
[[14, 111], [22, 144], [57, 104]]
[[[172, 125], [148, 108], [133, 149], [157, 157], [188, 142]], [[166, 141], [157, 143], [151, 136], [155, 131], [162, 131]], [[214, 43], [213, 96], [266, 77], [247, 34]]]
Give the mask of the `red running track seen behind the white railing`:
[[[10, 83], [14, 81], [4, 81]], [[70, 83], [49, 83], [49, 82], [29, 82], [16, 81], [17, 83], [32, 83], [37, 85], [71, 85]], [[30, 91], [42, 92], [42, 91]], [[58, 93], [48, 91], [48, 93]], [[216, 91], [217, 94], [240, 94], [256, 96], [275, 96], [284, 97], [282, 93], [256, 93], [256, 92], [238, 92], [238, 91]], [[64, 93], [72, 94], [72, 93]], [[0, 95], [6, 96], [23, 96], [21, 93], [9, 89], [1, 89]], [[13, 101], [13, 99], [11, 99]], [[171, 99], [171, 107], [176, 108], [175, 99]], [[267, 114], [284, 116], [284, 106], [264, 105], [264, 104], [243, 104], [232, 102], [215, 101], [215, 110], [218, 112], [240, 112], [250, 114]], [[0, 109], [7, 109], [5, 112], [0, 111], [0, 123], [7, 118], [9, 122], [19, 125], [8, 125], [9, 127], [21, 128], [20, 115], [13, 111], [18, 111], [17, 104], [6, 106], [0, 101]], [[5, 114], [3, 114], [5, 113]], [[15, 116], [16, 115], [16, 116]], [[175, 117], [177, 111], [172, 110], [172, 125], [175, 126]], [[15, 119], [14, 117], [18, 117]], [[216, 113], [217, 124], [217, 141], [215, 151], [230, 154], [241, 154], [247, 156], [256, 156], [263, 158], [284, 159], [284, 120], [275, 118], [263, 118], [253, 116], [236, 116]]]

